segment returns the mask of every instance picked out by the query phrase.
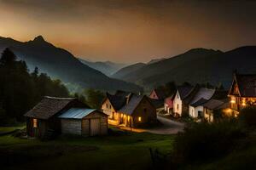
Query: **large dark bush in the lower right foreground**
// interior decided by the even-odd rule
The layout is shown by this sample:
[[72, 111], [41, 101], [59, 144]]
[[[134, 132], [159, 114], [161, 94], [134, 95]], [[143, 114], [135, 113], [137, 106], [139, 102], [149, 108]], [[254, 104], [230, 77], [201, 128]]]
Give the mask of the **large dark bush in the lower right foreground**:
[[210, 161], [235, 150], [245, 136], [236, 122], [196, 123], [177, 134], [173, 159], [179, 163]]

